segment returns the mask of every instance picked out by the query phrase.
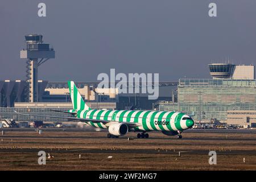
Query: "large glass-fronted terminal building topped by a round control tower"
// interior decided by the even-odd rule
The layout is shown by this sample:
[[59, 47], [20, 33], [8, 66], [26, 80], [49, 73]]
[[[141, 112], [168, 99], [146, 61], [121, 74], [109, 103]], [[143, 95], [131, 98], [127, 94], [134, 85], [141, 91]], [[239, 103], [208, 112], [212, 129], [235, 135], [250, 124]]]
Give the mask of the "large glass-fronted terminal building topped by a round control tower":
[[[213, 120], [226, 123], [231, 110], [256, 110], [254, 65], [209, 64], [208, 67], [213, 79], [179, 79], [177, 110], [194, 111], [193, 118], [202, 123]], [[175, 109], [172, 103], [159, 104], [159, 110], [172, 109]], [[237, 124], [232, 119], [229, 123]], [[251, 126], [251, 122], [248, 124]]]

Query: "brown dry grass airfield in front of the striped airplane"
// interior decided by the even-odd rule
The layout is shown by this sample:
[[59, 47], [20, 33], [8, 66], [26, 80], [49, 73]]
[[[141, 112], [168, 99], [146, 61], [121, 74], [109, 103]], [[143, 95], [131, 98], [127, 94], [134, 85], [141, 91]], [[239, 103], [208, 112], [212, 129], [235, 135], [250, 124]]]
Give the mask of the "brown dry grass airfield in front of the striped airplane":
[[[40, 135], [33, 130], [6, 131], [0, 137], [0, 170], [256, 169], [255, 133], [183, 133], [183, 139], [162, 133], [150, 133], [148, 139], [135, 136], [108, 139], [106, 132], [81, 130], [46, 130]], [[46, 165], [38, 164], [41, 150], [54, 156]], [[211, 150], [217, 152], [217, 165], [208, 163]]]

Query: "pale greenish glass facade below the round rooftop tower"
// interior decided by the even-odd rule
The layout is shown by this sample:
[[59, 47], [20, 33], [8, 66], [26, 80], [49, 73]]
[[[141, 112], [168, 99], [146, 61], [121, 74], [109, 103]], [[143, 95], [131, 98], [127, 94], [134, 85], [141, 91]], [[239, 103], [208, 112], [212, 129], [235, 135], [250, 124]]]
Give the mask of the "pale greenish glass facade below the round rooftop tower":
[[178, 110], [226, 122], [228, 110], [256, 110], [256, 80], [180, 79]]

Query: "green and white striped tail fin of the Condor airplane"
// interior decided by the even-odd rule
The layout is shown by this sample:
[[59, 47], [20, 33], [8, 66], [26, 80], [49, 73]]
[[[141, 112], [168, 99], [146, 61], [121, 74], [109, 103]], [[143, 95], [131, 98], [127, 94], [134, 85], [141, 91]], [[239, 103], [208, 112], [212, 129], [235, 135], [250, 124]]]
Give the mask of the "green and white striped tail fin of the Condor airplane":
[[90, 107], [86, 105], [85, 101], [82, 99], [79, 90], [77, 89], [73, 81], [68, 81], [69, 94], [71, 97], [72, 105], [74, 110], [89, 110]]

